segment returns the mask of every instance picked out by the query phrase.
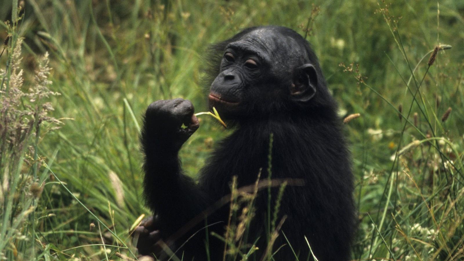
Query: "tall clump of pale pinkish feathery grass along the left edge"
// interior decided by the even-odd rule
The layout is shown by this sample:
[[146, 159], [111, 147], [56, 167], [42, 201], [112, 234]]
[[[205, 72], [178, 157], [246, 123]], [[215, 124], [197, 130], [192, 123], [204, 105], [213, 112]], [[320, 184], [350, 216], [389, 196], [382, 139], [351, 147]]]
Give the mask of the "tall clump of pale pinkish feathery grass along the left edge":
[[[58, 95], [48, 88], [52, 84], [48, 79], [51, 70], [48, 53], [39, 59], [34, 80], [28, 81], [28, 88], [25, 88], [21, 66], [23, 39], [11, 39], [10, 68], [0, 70], [0, 78], [4, 79], [0, 84], [0, 173], [4, 174], [0, 187], [0, 201], [4, 206], [0, 211], [0, 259], [23, 255], [26, 253], [24, 249], [32, 249], [27, 254], [30, 251], [36, 254], [36, 242], [29, 238], [36, 238], [35, 209], [47, 179], [46, 172], [45, 175], [39, 174], [44, 161], [38, 153], [39, 141], [43, 138], [40, 128], [43, 122], [61, 124], [48, 116], [53, 107], [45, 101], [45, 98]], [[30, 200], [25, 201], [25, 198]]]

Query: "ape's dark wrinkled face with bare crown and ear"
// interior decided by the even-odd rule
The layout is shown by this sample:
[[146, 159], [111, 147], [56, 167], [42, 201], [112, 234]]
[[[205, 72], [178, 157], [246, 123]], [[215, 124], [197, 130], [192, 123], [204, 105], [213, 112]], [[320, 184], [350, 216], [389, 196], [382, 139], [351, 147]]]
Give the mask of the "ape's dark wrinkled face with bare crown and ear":
[[305, 61], [304, 46], [275, 28], [246, 33], [226, 46], [209, 106], [233, 119], [257, 110], [260, 115], [275, 113], [289, 103], [307, 101], [316, 92], [317, 75]]

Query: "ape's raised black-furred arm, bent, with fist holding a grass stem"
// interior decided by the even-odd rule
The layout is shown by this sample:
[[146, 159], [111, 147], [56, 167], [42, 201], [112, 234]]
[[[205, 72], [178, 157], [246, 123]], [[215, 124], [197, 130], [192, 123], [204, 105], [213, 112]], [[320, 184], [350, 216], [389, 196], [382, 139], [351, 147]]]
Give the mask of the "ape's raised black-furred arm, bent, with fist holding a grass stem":
[[[142, 129], [145, 154], [144, 194], [161, 222], [161, 236], [177, 231], [206, 208], [206, 196], [182, 173], [178, 152], [199, 127], [193, 105], [184, 99], [160, 100], [148, 106]], [[184, 124], [187, 128], [181, 128]]]

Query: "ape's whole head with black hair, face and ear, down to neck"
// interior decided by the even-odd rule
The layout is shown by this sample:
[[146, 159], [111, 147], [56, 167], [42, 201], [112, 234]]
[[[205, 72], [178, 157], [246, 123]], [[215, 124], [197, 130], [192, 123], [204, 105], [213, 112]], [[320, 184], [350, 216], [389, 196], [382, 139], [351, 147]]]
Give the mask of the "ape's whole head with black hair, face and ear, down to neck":
[[269, 117], [335, 108], [316, 55], [289, 28], [247, 28], [212, 49], [216, 68], [208, 99], [221, 117]]

